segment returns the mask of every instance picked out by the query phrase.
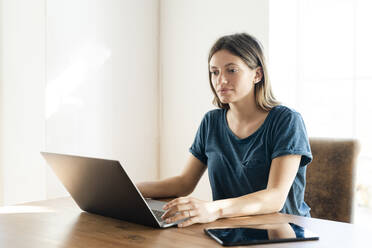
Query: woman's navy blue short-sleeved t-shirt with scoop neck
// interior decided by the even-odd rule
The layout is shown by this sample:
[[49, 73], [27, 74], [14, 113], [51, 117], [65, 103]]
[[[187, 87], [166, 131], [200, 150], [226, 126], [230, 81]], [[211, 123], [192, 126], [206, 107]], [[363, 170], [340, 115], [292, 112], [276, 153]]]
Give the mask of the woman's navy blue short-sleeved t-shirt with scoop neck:
[[208, 166], [213, 200], [266, 189], [271, 161], [298, 154], [302, 155], [300, 167], [280, 212], [310, 216], [304, 192], [306, 165], [312, 155], [301, 115], [288, 107], [276, 106], [252, 135], [240, 139], [229, 128], [226, 112], [226, 109], [209, 111], [190, 148], [190, 152]]

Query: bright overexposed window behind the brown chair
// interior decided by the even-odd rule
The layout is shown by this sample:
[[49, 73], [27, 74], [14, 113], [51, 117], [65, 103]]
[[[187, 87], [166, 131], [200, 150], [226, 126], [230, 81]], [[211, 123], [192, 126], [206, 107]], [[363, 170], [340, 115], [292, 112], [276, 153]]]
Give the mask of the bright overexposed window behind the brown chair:
[[357, 138], [358, 208], [372, 214], [372, 1], [270, 1], [269, 70], [309, 136]]

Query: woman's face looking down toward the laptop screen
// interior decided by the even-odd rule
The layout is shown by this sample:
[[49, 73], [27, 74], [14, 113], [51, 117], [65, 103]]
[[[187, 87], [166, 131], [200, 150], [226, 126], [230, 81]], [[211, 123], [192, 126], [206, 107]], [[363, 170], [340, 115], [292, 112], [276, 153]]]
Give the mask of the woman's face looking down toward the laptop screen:
[[260, 67], [252, 70], [240, 57], [219, 50], [213, 54], [209, 70], [214, 90], [222, 103], [254, 98], [254, 84], [261, 79]]

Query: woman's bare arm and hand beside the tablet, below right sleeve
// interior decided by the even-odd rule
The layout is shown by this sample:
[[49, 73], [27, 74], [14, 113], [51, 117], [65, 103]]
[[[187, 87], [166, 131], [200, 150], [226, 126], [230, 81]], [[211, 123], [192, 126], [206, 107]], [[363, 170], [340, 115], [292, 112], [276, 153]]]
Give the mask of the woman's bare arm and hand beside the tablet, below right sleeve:
[[[164, 207], [167, 222], [190, 217], [179, 226], [207, 223], [219, 218], [268, 214], [283, 208], [297, 174], [301, 155], [286, 155], [273, 159], [267, 188], [237, 198], [205, 202], [194, 198], [175, 199]], [[176, 212], [180, 214], [174, 215]]]

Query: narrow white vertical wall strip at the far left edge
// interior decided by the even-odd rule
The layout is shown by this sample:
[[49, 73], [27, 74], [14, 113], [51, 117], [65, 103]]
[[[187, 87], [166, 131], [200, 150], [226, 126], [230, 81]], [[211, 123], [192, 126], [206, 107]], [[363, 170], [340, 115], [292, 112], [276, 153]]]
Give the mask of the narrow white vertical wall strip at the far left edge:
[[0, 196], [45, 198], [44, 0], [0, 2]]

